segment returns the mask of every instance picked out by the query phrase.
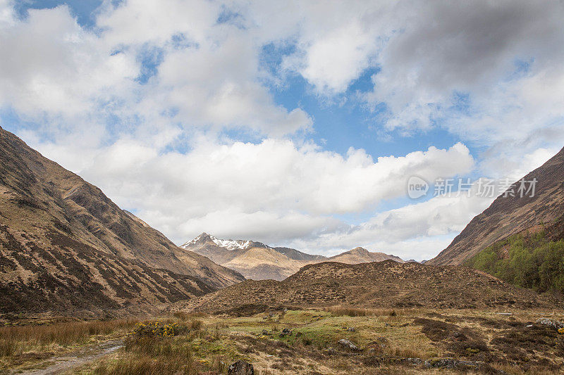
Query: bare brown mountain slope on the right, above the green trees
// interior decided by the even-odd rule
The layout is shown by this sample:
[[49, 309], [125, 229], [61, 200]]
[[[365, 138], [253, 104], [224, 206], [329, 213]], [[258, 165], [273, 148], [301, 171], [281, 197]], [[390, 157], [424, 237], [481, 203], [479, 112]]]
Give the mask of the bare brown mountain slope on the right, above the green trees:
[[[564, 148], [544, 165], [530, 172], [525, 181], [537, 180], [534, 196], [502, 194], [465, 227], [431, 265], [460, 265], [484, 248], [513, 234], [556, 222], [564, 214]], [[517, 191], [520, 183], [510, 189]]]

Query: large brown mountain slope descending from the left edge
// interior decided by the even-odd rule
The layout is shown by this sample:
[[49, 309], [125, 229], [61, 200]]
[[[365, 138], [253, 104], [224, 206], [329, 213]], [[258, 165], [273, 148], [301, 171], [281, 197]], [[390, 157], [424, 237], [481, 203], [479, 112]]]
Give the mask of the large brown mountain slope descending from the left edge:
[[0, 312], [141, 312], [243, 281], [0, 127]]

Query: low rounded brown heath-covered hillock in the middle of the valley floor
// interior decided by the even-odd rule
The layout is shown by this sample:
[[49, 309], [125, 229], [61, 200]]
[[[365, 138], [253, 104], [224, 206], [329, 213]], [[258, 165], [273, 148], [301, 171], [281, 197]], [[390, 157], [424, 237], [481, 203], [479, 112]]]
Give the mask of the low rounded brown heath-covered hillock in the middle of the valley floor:
[[424, 308], [555, 308], [558, 300], [517, 288], [467, 267], [384, 262], [302, 267], [283, 281], [247, 280], [170, 309], [230, 312], [252, 306]]

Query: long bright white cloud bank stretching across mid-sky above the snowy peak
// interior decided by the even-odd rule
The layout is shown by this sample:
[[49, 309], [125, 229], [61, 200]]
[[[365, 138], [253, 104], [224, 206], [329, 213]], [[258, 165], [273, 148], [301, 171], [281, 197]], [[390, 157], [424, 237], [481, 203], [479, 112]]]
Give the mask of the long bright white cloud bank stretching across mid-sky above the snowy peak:
[[362, 149], [343, 156], [289, 140], [226, 145], [208, 139], [188, 153], [159, 153], [123, 139], [86, 151], [89, 163], [67, 163], [64, 155], [76, 154], [66, 146], [37, 148], [63, 165], [82, 165], [82, 177], [179, 243], [202, 231], [268, 243], [335, 233], [348, 226], [333, 215], [370, 212], [405, 196], [413, 174], [434, 180], [474, 166], [462, 144], [373, 160]]

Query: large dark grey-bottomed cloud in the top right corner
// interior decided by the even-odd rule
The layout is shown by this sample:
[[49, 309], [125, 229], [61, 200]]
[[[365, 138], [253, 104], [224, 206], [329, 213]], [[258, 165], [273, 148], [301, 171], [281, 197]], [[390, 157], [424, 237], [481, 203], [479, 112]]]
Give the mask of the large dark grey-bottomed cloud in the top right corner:
[[[439, 122], [465, 139], [529, 152], [562, 143], [550, 135], [564, 134], [561, 2], [413, 5], [379, 54], [381, 71], [366, 96], [386, 104], [389, 129]], [[545, 127], [553, 131], [538, 132]]]

